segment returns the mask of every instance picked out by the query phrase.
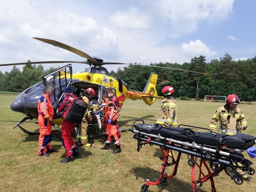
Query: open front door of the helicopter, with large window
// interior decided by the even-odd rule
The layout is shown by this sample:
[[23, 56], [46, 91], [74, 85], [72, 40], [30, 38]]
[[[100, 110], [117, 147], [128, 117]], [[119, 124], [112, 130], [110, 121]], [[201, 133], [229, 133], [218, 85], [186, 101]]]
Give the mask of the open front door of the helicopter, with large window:
[[60, 67], [59, 69], [43, 76], [44, 86], [52, 87], [52, 106], [56, 108], [64, 95], [63, 90], [68, 87], [72, 80], [72, 65]]

